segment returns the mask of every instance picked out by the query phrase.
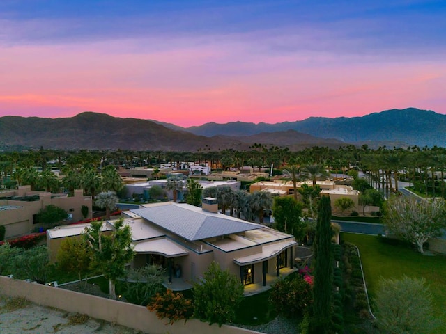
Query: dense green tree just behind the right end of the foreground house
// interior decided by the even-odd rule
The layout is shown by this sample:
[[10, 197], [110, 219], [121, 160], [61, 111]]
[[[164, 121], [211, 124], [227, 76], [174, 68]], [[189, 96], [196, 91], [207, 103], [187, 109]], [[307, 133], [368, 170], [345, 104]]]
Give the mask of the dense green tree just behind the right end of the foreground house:
[[302, 220], [302, 204], [292, 197], [276, 197], [272, 205], [276, 230], [293, 234], [302, 240], [305, 234], [305, 221]]

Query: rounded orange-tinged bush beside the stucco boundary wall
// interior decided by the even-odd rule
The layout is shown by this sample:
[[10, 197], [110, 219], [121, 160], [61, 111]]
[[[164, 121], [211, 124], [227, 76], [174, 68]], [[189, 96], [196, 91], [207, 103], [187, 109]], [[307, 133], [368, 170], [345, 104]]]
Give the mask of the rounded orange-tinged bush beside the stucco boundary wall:
[[194, 305], [190, 299], [185, 299], [183, 294], [174, 293], [167, 289], [164, 294], [156, 294], [147, 309], [155, 311], [158, 319], [169, 319], [169, 324], [175, 321], [190, 319], [194, 313]]

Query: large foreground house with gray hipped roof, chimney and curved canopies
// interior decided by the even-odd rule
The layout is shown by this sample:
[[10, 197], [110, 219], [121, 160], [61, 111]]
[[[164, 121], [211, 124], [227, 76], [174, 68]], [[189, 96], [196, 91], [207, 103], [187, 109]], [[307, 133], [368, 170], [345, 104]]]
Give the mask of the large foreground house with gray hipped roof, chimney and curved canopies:
[[[267, 276], [294, 268], [297, 243], [291, 234], [220, 214], [214, 198], [204, 198], [203, 208], [163, 202], [123, 212], [123, 216], [132, 229], [137, 253], [133, 266], [158, 264], [167, 269], [169, 282], [176, 277], [193, 283], [212, 261], [235, 274], [243, 285], [265, 286]], [[114, 221], [107, 224], [113, 226]], [[59, 237], [63, 229], [66, 236], [72, 235], [68, 228], [59, 228]], [[52, 230], [47, 235], [52, 247]]]

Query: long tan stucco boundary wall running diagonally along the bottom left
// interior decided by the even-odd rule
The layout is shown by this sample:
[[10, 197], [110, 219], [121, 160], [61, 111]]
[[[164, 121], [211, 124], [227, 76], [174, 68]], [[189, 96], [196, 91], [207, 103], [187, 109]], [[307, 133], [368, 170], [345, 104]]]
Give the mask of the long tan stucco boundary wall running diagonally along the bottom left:
[[166, 325], [166, 319], [157, 319], [155, 312], [148, 311], [144, 306], [81, 294], [59, 287], [28, 283], [4, 276], [0, 276], [0, 294], [4, 296], [21, 296], [38, 305], [86, 314], [95, 319], [114, 322], [150, 334], [259, 333], [226, 325], [222, 327], [216, 324], [209, 326], [207, 323], [197, 319], [191, 319], [186, 324], [184, 324], [184, 321], [177, 321], [172, 326]]

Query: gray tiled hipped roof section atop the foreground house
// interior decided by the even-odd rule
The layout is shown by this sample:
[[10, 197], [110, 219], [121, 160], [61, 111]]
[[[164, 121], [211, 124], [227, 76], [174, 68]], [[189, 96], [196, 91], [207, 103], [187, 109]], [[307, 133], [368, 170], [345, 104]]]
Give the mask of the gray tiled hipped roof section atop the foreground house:
[[203, 211], [188, 204], [171, 203], [130, 210], [189, 241], [219, 237], [224, 234], [263, 228], [263, 225], [248, 223], [241, 219]]

